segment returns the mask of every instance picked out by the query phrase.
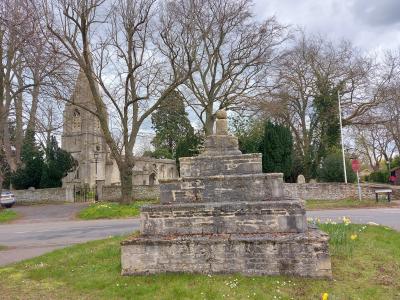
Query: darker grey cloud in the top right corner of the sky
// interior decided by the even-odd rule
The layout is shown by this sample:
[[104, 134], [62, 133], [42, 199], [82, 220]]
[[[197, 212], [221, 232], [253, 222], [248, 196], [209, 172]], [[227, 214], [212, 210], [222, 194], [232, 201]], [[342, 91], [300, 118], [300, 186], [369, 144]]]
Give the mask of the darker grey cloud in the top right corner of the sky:
[[399, 0], [355, 0], [352, 5], [355, 18], [371, 26], [389, 26], [400, 23]]

